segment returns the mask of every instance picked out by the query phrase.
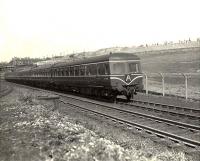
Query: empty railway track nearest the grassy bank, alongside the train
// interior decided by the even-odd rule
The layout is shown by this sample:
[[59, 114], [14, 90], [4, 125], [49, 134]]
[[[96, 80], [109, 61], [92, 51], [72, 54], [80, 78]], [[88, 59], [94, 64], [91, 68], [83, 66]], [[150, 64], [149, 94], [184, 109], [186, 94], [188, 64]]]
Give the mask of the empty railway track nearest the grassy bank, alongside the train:
[[[24, 87], [33, 89], [29, 86]], [[144, 131], [150, 138], [160, 138], [160, 140], [164, 138], [164, 140], [172, 142], [172, 145], [179, 143], [196, 149], [200, 148], [200, 126], [127, 110], [123, 108], [125, 105], [98, 102], [43, 89], [42, 91], [58, 95], [60, 102], [67, 107], [78, 108], [113, 122], [119, 122], [129, 128], [136, 129], [136, 131]]]

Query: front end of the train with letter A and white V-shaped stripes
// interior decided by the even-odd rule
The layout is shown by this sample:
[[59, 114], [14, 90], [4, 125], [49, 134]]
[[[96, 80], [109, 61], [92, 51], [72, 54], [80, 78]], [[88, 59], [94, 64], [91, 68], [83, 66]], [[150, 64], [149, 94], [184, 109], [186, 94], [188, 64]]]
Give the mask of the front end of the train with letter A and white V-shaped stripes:
[[143, 90], [143, 74], [138, 56], [124, 54], [121, 60], [115, 57], [109, 64], [111, 86], [116, 95], [124, 95], [129, 101], [134, 94]]

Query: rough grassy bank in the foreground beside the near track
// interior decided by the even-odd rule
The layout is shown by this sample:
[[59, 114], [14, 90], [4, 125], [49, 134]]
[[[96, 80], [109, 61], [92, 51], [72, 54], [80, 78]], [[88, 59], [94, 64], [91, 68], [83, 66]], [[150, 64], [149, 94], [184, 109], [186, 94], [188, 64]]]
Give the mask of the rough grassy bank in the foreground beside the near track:
[[186, 155], [119, 125], [51, 102], [37, 91], [15, 89], [0, 99], [1, 161], [189, 161]]

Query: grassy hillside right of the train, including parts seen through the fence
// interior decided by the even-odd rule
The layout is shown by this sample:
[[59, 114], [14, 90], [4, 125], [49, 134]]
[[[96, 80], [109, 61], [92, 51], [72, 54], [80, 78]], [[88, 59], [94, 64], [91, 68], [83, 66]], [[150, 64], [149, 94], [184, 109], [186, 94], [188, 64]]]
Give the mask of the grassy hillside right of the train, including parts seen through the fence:
[[[162, 91], [158, 73], [188, 73], [188, 95], [200, 99], [200, 48], [143, 52], [137, 55], [141, 58], [143, 72], [149, 75], [150, 90]], [[166, 92], [184, 96], [184, 81], [181, 74], [165, 75]]]

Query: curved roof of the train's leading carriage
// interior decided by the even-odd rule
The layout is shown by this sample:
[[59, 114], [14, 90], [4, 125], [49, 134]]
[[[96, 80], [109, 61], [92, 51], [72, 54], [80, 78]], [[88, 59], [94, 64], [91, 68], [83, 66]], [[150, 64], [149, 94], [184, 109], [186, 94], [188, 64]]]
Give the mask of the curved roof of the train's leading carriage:
[[132, 53], [110, 53], [107, 55], [100, 55], [96, 57], [90, 57], [90, 58], [83, 58], [80, 60], [70, 61], [70, 62], [59, 62], [52, 67], [62, 67], [66, 65], [79, 65], [79, 64], [88, 64], [88, 63], [97, 63], [97, 62], [103, 62], [103, 61], [114, 61], [114, 60], [140, 60], [140, 58], [137, 55], [134, 55]]

